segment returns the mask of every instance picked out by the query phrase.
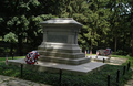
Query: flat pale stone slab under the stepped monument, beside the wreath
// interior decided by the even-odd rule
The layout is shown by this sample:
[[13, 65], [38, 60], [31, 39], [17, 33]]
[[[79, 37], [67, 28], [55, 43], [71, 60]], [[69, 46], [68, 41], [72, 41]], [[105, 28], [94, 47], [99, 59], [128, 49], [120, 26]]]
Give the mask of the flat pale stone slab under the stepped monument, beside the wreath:
[[89, 74], [91, 72], [99, 71], [105, 64], [100, 62], [89, 62], [81, 65], [66, 65], [59, 63], [50, 63], [50, 62], [38, 62], [38, 64], [29, 65], [25, 63], [24, 58], [21, 60], [9, 60], [9, 64], [20, 66], [23, 64], [24, 68], [32, 69], [35, 72], [50, 72], [50, 73], [59, 73], [62, 69], [64, 73], [76, 73], [79, 75]]

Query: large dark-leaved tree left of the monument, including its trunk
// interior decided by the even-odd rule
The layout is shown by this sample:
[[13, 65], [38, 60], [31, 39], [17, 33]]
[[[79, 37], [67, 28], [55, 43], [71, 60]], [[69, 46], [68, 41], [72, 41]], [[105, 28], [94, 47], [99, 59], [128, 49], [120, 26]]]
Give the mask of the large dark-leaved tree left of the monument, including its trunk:
[[[6, 23], [4, 28], [8, 30], [7, 33], [13, 32], [18, 36], [19, 55], [23, 55], [22, 50], [24, 40], [28, 37], [30, 43], [37, 43], [34, 35], [38, 36], [42, 34], [42, 30], [41, 26], [39, 26], [39, 22], [43, 21], [43, 19], [50, 19], [52, 15], [42, 14], [44, 11], [41, 12], [41, 10], [39, 10], [40, 2], [38, 0], [4, 0], [1, 1], [1, 3], [3, 3], [1, 7], [6, 10], [4, 11], [1, 9], [1, 11], [3, 11], [3, 15], [7, 14], [7, 20], [3, 21]], [[31, 23], [33, 24], [32, 26]]]

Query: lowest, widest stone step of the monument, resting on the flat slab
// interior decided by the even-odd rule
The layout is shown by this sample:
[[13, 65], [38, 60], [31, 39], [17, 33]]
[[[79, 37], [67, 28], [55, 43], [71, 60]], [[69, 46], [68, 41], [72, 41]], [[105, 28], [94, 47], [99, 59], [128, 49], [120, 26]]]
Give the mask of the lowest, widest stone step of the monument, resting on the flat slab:
[[52, 62], [68, 65], [80, 65], [90, 62], [88, 57], [82, 58], [63, 58], [63, 57], [50, 57], [50, 56], [40, 56], [39, 61], [41, 62]]

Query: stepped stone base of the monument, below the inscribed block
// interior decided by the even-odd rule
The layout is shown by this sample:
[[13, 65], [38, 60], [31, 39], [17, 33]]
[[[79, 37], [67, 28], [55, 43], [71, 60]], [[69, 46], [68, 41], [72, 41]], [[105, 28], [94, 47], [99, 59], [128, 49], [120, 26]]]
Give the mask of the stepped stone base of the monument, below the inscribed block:
[[80, 65], [90, 62], [90, 58], [85, 57], [78, 44], [42, 42], [38, 52], [41, 62], [68, 65]]

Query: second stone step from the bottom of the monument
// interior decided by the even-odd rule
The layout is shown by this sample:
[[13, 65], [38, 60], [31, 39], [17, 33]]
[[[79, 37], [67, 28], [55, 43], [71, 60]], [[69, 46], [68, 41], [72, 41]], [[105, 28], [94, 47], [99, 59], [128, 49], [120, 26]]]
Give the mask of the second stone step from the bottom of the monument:
[[64, 57], [64, 58], [81, 58], [85, 57], [84, 53], [60, 53], [60, 52], [49, 52], [49, 51], [38, 51], [39, 54], [44, 56]]

